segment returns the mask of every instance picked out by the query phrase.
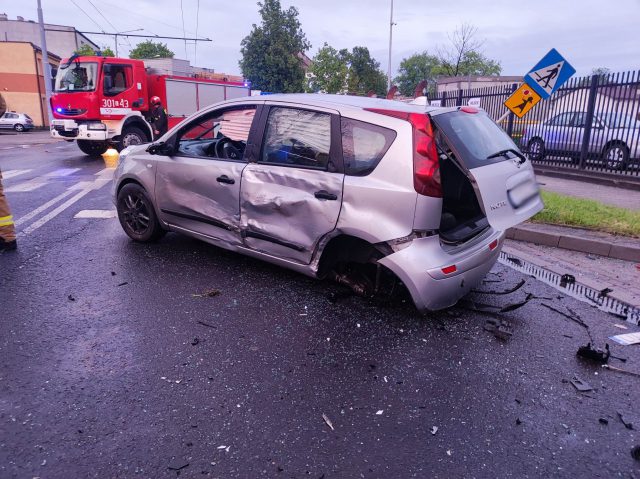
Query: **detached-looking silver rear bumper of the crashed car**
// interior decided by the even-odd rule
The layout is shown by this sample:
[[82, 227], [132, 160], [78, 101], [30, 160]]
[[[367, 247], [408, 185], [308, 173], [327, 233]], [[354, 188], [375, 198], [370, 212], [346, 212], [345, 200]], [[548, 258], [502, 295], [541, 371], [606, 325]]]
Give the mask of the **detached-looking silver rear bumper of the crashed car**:
[[[443, 309], [482, 281], [498, 260], [504, 237], [504, 232], [490, 230], [480, 241], [455, 253], [445, 251], [437, 236], [421, 238], [379, 263], [402, 280], [419, 311]], [[442, 271], [452, 265], [455, 272]]]

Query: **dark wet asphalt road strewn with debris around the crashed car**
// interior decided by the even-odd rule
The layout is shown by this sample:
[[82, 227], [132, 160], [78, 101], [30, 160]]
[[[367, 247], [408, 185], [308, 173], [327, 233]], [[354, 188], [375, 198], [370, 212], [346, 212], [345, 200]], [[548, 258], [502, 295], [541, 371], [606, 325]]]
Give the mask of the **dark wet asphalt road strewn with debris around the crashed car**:
[[[177, 234], [135, 244], [75, 218], [113, 210], [101, 161], [3, 141], [0, 477], [640, 477], [640, 377], [577, 358], [587, 329], [542, 304], [600, 347], [638, 327], [501, 264], [481, 290], [525, 285], [421, 316]], [[505, 341], [470, 302], [527, 293]]]

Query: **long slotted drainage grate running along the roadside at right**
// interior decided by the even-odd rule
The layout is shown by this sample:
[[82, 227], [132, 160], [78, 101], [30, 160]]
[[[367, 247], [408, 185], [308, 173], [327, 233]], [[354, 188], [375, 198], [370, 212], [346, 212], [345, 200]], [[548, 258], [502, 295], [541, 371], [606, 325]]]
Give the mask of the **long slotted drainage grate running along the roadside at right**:
[[571, 275], [562, 275], [549, 271], [541, 266], [530, 263], [513, 254], [500, 252], [498, 261], [516, 271], [533, 276], [539, 281], [562, 291], [567, 296], [595, 306], [600, 311], [617, 316], [625, 321], [640, 326], [640, 309], [612, 298], [606, 290], [598, 291], [585, 286], [575, 280]]

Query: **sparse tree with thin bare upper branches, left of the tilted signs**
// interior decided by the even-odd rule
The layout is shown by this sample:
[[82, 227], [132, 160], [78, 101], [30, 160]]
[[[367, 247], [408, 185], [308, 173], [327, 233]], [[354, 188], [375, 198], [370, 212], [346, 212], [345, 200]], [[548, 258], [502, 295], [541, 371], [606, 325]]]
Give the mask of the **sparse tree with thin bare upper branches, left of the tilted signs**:
[[500, 74], [500, 63], [482, 54], [483, 42], [476, 39], [476, 33], [476, 27], [462, 24], [449, 37], [450, 45], [438, 48], [443, 75], [457, 77]]

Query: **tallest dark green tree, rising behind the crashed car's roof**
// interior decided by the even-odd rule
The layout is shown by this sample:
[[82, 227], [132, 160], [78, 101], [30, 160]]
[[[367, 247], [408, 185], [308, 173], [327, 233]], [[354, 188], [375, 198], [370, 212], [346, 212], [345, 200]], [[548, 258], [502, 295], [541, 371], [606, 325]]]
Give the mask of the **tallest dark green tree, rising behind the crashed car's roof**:
[[258, 6], [262, 23], [253, 24], [240, 43], [242, 74], [258, 90], [303, 91], [304, 70], [298, 54], [311, 48], [311, 44], [300, 27], [298, 10], [283, 10], [280, 0], [264, 0]]

